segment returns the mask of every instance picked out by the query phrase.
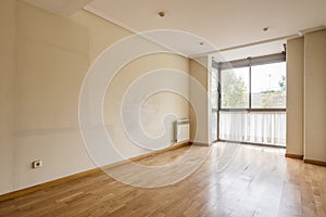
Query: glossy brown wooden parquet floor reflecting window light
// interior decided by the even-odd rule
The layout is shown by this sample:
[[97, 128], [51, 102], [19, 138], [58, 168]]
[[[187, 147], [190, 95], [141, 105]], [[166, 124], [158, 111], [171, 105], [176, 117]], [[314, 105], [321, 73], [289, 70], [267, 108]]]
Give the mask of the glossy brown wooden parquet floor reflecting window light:
[[[168, 165], [189, 146], [136, 162]], [[186, 164], [196, 163], [195, 155]], [[193, 151], [192, 150], [192, 151]], [[227, 162], [233, 156], [233, 161]], [[115, 169], [137, 177], [130, 165]], [[183, 171], [175, 171], [183, 173]], [[152, 178], [168, 179], [158, 176]], [[105, 173], [43, 189], [0, 203], [2, 217], [74, 216], [326, 216], [326, 168], [284, 157], [284, 150], [216, 143], [206, 161], [184, 180], [161, 188], [137, 188]]]

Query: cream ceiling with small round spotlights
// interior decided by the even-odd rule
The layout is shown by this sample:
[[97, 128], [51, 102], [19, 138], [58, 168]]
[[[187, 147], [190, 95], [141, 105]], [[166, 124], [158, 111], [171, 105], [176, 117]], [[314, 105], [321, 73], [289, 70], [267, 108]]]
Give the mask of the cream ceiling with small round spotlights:
[[151, 39], [187, 56], [221, 51], [230, 60], [280, 52], [287, 38], [326, 26], [326, 0], [25, 1], [64, 16], [85, 7], [134, 33], [151, 30]]

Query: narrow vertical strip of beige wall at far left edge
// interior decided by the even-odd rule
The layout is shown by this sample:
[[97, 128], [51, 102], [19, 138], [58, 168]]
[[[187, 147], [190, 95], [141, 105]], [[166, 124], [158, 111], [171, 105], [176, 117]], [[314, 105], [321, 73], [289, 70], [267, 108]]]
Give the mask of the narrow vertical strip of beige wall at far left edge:
[[0, 194], [12, 191], [13, 80], [15, 76], [15, 1], [2, 0], [0, 7]]

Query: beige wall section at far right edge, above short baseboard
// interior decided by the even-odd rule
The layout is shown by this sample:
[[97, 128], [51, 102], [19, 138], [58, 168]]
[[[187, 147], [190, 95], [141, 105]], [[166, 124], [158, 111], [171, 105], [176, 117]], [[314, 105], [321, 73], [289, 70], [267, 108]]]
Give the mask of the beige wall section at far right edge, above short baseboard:
[[304, 36], [304, 158], [326, 162], [326, 30]]

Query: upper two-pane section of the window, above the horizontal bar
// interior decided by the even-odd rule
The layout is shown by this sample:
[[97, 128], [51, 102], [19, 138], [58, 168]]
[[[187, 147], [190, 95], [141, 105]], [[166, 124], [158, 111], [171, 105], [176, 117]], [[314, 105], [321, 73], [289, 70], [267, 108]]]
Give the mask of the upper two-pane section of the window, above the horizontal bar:
[[285, 110], [286, 62], [281, 56], [220, 64], [220, 110]]

